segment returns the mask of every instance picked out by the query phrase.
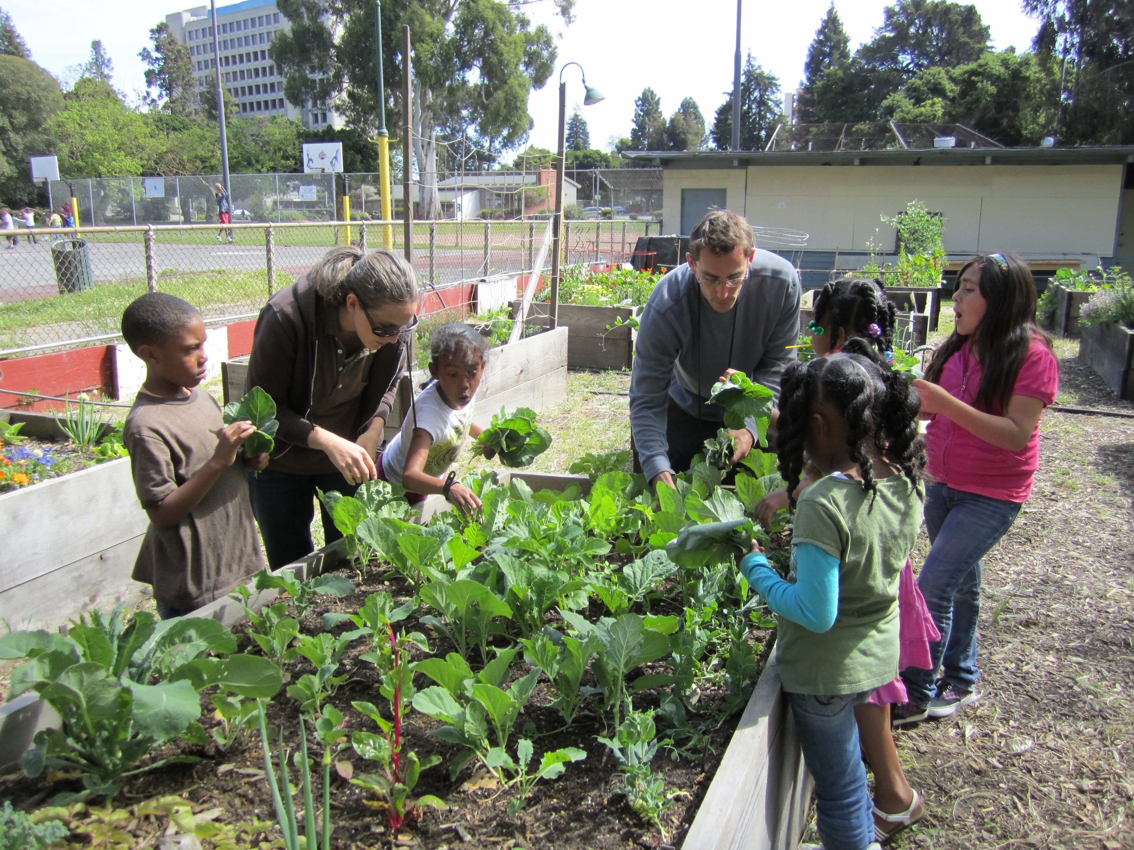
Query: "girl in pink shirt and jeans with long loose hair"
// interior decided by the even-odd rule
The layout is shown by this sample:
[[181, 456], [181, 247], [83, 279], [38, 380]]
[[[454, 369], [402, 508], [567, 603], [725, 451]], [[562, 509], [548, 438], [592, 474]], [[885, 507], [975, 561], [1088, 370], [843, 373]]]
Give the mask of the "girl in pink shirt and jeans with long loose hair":
[[[1040, 415], [1059, 390], [1059, 364], [1035, 324], [1035, 282], [1015, 254], [970, 261], [953, 295], [953, 335], [933, 355], [922, 398], [930, 549], [917, 577], [941, 639], [930, 670], [902, 671], [908, 702], [895, 725], [947, 717], [980, 699], [976, 624], [981, 559], [1016, 520], [1040, 459]], [[937, 679], [938, 668], [941, 678]]]

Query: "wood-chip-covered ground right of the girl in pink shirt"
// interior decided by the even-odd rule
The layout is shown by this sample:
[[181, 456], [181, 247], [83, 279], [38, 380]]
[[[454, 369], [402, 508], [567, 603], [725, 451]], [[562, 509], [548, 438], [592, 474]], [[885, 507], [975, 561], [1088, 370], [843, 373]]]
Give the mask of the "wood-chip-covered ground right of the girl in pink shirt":
[[[1076, 352], [1057, 342], [1058, 403], [1134, 413]], [[1040, 437], [1031, 499], [984, 559], [984, 696], [897, 732], [929, 814], [894, 847], [1134, 848], [1134, 419], [1049, 410]]]

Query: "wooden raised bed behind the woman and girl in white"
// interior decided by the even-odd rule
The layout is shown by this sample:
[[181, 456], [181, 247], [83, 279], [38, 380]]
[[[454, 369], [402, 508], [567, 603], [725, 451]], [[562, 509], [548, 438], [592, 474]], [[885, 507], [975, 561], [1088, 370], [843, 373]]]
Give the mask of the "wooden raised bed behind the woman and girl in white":
[[[501, 407], [509, 411], [517, 407], [541, 410], [567, 398], [567, 328], [557, 328], [491, 349], [476, 393], [473, 422], [485, 426], [491, 424], [492, 414], [499, 414]], [[248, 358], [226, 362], [221, 373], [225, 403], [239, 399], [245, 392]], [[411, 393], [420, 392], [428, 376], [428, 372], [415, 371], [413, 380], [409, 375], [401, 379], [397, 400], [386, 423], [387, 440], [401, 427], [403, 410], [409, 405]]]

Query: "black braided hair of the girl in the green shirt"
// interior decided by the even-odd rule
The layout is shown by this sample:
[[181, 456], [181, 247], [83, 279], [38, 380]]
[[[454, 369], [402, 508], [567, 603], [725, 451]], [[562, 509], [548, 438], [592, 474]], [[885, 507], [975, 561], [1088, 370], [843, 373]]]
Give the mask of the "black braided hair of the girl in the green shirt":
[[862, 339], [852, 339], [840, 354], [792, 362], [780, 382], [779, 431], [776, 451], [779, 471], [795, 504], [795, 488], [803, 473], [803, 448], [812, 403], [822, 399], [843, 413], [850, 459], [862, 473], [862, 486], [878, 491], [869, 440], [879, 454], [920, 486], [925, 468], [925, 441], [917, 433], [921, 398], [904, 374], [894, 372], [882, 356]]

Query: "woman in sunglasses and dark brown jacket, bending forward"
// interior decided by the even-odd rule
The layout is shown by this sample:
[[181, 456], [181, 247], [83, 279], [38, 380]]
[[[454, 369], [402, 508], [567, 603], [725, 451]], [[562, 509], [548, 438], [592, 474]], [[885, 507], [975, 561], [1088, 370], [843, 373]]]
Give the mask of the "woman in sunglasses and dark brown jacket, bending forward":
[[[417, 324], [417, 281], [387, 250], [335, 248], [256, 321], [246, 389], [276, 401], [276, 450], [249, 477], [272, 569], [313, 549], [316, 487], [353, 494], [378, 476], [382, 430]], [[342, 535], [321, 508], [327, 543]]]

